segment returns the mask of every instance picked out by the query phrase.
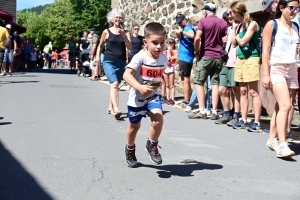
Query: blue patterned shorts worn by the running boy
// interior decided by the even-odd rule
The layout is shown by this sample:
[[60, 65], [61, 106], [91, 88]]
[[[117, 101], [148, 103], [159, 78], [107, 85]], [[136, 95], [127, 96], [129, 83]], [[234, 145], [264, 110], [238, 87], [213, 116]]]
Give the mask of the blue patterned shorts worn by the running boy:
[[159, 108], [162, 110], [162, 101], [161, 95], [158, 95], [155, 99], [146, 103], [143, 107], [131, 107], [127, 106], [128, 109], [128, 119], [132, 124], [138, 124], [142, 120], [143, 117], [147, 117], [148, 112]]

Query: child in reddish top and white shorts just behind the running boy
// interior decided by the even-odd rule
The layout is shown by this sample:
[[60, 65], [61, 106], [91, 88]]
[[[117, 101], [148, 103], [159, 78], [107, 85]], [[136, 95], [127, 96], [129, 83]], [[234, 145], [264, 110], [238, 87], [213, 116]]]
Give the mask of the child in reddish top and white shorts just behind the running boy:
[[[167, 95], [167, 104], [168, 105], [174, 105], [175, 104], [175, 84], [174, 84], [174, 78], [175, 78], [175, 69], [174, 67], [177, 64], [177, 50], [175, 46], [175, 40], [169, 39], [168, 41], [169, 48], [164, 53], [167, 55], [168, 58], [168, 67], [165, 69], [164, 72], [164, 80], [166, 83], [166, 95]], [[170, 97], [170, 92], [172, 95], [172, 98]]]

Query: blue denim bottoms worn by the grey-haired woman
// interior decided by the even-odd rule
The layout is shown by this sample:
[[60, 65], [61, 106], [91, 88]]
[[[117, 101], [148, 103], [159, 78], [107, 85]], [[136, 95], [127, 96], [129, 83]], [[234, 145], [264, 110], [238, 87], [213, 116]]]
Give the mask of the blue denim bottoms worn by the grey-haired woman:
[[125, 60], [105, 60], [103, 62], [103, 68], [109, 83], [114, 83], [116, 81], [121, 83], [123, 80], [125, 67]]

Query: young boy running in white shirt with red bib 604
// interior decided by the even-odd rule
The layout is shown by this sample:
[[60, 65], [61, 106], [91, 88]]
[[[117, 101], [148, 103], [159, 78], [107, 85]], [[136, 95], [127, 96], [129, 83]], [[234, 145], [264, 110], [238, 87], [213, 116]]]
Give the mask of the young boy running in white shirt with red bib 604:
[[146, 50], [141, 50], [132, 58], [123, 75], [124, 81], [132, 86], [127, 103], [130, 123], [125, 146], [129, 167], [137, 165], [134, 141], [141, 127], [141, 120], [146, 115], [150, 116], [152, 126], [145, 150], [151, 162], [162, 163], [157, 144], [163, 126], [160, 84], [168, 62], [168, 58], [163, 54], [167, 35], [160, 23], [153, 22], [146, 25], [144, 36]]

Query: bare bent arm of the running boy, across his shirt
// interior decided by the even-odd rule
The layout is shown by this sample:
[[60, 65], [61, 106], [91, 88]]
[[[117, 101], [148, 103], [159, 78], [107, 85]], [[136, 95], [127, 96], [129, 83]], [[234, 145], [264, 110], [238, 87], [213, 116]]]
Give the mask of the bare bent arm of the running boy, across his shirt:
[[133, 76], [133, 74], [135, 73], [135, 70], [132, 68], [126, 68], [125, 73], [123, 75], [123, 79], [126, 83], [128, 83], [131, 87], [133, 87], [134, 89], [136, 89], [137, 91], [139, 91], [141, 93], [141, 95], [143, 96], [149, 96], [151, 95], [154, 90], [153, 90], [153, 86], [149, 86], [149, 85], [141, 85]]

